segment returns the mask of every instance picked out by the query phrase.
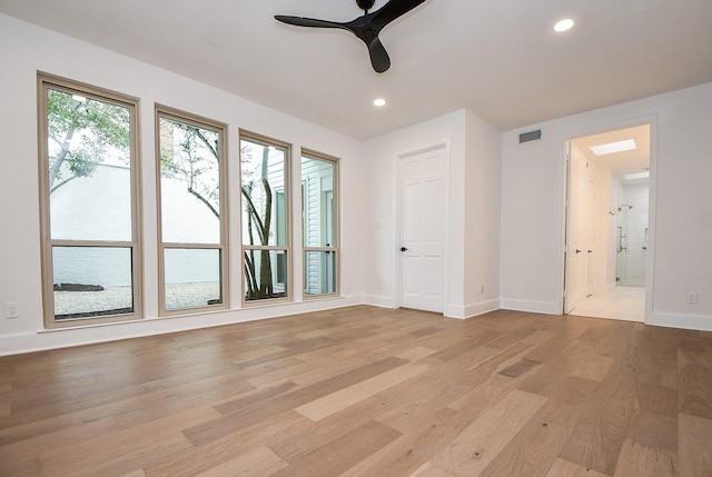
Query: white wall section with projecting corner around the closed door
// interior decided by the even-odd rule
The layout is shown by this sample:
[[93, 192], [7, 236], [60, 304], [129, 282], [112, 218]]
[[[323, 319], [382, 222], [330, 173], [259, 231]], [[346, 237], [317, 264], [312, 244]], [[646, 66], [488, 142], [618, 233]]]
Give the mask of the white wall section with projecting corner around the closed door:
[[444, 314], [466, 318], [498, 308], [501, 138], [501, 131], [459, 110], [367, 141], [367, 302], [398, 306], [397, 156], [447, 143]]

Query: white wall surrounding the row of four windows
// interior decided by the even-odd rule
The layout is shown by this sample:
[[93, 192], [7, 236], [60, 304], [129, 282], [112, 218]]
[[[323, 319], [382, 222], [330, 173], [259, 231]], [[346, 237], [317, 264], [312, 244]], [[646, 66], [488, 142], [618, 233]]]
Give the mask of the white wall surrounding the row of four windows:
[[[259, 319], [362, 301], [366, 236], [362, 227], [366, 173], [363, 145], [241, 98], [225, 93], [130, 58], [0, 14], [0, 355], [89, 341], [190, 329]], [[145, 315], [140, 322], [43, 331], [37, 146], [37, 72], [43, 71], [140, 98]], [[161, 103], [228, 125], [229, 183], [239, 183], [237, 131], [244, 128], [293, 145], [293, 175], [298, 177], [299, 148], [342, 159], [342, 286], [344, 298], [301, 301], [301, 264], [295, 260], [295, 304], [237, 309], [240, 306], [239, 250], [230, 250], [233, 310], [158, 319], [158, 271], [154, 103]], [[239, 237], [239, 189], [230, 189], [230, 236]], [[295, 223], [300, 221], [300, 189], [293, 190]], [[237, 240], [231, 241], [233, 245]], [[295, 247], [300, 237], [294, 237]], [[20, 317], [4, 318], [4, 304], [17, 302]]]

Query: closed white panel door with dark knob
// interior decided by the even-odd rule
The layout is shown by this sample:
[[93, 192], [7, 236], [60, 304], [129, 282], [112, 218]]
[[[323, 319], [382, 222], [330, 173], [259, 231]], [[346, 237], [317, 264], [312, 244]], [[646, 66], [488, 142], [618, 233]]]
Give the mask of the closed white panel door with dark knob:
[[400, 306], [443, 311], [446, 217], [444, 146], [402, 156]]

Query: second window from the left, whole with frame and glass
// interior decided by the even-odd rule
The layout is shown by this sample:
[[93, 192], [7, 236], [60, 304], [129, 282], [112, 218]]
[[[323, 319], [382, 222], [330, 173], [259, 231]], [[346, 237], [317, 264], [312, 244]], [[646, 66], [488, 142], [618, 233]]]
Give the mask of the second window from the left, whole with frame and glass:
[[160, 314], [227, 307], [224, 125], [156, 109]]

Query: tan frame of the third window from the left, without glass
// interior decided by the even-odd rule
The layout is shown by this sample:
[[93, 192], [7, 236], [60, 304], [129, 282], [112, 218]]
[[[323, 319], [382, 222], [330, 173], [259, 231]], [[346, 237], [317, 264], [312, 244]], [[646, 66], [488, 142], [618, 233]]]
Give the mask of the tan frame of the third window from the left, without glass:
[[[281, 189], [274, 189], [275, 193], [275, 215], [277, 216], [277, 195], [283, 195], [285, 199], [284, 203], [284, 215], [285, 215], [285, 245], [279, 246], [263, 246], [263, 245], [246, 245], [244, 244], [244, 211], [245, 211], [245, 197], [243, 195], [243, 140], [254, 142], [264, 147], [274, 147], [276, 149], [280, 149], [284, 151], [284, 187]], [[253, 308], [253, 307], [264, 307], [270, 305], [278, 305], [285, 302], [294, 301], [294, 257], [293, 257], [293, 245], [291, 245], [291, 230], [293, 230], [293, 219], [291, 219], [291, 145], [285, 141], [280, 141], [278, 139], [274, 139], [267, 136], [263, 136], [256, 132], [251, 132], [245, 129], [239, 129], [238, 131], [238, 143], [239, 143], [239, 168], [238, 168], [238, 181], [239, 181], [239, 198], [240, 198], [240, 230], [239, 230], [239, 244], [240, 244], [240, 301], [244, 308]], [[277, 233], [277, 227], [275, 227], [275, 235]], [[285, 287], [285, 297], [275, 297], [275, 298], [261, 298], [261, 299], [247, 299], [247, 290], [245, 287], [246, 281], [246, 272], [245, 272], [245, 256], [248, 250], [256, 251], [284, 251], [287, 256], [286, 264], [286, 279], [287, 285]], [[278, 256], [277, 256], [278, 257]], [[279, 267], [278, 259], [275, 260], [275, 266]], [[277, 270], [274, 271], [277, 274]]]

